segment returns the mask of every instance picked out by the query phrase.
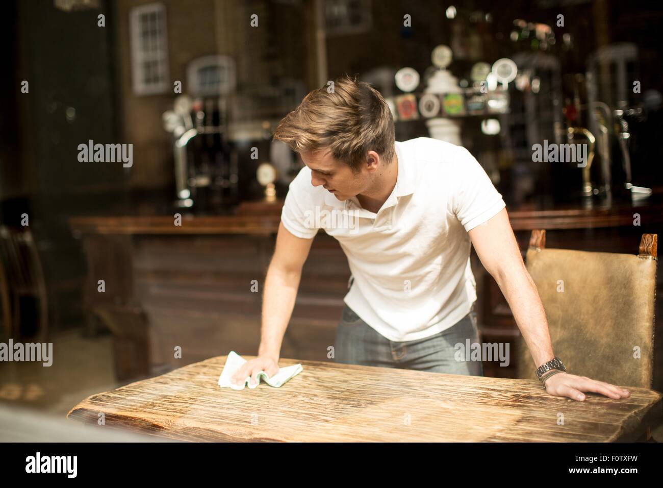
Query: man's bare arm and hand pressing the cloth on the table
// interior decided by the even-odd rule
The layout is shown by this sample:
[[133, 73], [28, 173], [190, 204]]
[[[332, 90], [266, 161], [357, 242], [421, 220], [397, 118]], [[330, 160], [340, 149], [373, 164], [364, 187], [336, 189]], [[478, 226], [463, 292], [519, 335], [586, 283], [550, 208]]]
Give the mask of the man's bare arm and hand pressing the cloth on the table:
[[312, 242], [313, 238], [293, 236], [282, 223], [278, 226], [276, 248], [265, 278], [258, 356], [247, 361], [233, 375], [232, 380], [236, 384], [241, 384], [247, 376], [251, 376], [251, 384], [255, 384], [256, 376], [261, 370], [269, 376], [278, 372], [281, 343], [292, 315], [302, 267]]

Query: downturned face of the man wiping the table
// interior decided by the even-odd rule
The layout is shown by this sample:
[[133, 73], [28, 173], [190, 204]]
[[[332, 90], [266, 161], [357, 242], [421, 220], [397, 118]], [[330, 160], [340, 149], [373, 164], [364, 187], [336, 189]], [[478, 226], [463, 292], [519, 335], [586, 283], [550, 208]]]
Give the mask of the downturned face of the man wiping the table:
[[331, 151], [305, 151], [300, 153], [304, 164], [311, 169], [311, 184], [322, 185], [338, 200], [343, 201], [366, 191], [373, 181], [375, 171], [369, 165], [362, 166], [359, 173], [353, 173], [350, 167], [331, 156]]

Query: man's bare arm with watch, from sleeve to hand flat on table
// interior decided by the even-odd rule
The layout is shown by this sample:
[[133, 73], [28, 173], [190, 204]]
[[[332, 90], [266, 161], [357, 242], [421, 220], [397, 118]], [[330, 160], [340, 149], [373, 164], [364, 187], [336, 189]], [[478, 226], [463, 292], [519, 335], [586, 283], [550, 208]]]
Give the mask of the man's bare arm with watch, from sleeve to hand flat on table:
[[[509, 302], [534, 363], [540, 366], [550, 361], [554, 353], [546, 313], [536, 285], [522, 262], [506, 208], [468, 233], [481, 263]], [[554, 374], [546, 380], [546, 390], [574, 400], [585, 399], [581, 392], [601, 393], [610, 398], [630, 396], [628, 390], [613, 384], [567, 373]]]

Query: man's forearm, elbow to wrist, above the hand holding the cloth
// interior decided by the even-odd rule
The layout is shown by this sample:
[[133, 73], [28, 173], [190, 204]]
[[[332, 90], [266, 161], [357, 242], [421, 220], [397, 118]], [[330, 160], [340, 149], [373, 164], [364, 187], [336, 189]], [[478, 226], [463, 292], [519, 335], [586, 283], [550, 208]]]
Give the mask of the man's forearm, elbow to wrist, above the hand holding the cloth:
[[269, 266], [263, 295], [259, 356], [280, 357], [281, 343], [292, 315], [301, 276], [301, 272]]

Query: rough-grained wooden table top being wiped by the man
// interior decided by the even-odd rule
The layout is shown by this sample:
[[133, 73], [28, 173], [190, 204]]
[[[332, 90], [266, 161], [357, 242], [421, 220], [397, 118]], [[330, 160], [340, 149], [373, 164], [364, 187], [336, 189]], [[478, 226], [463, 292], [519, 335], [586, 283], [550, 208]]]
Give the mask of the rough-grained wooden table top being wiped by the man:
[[[247, 356], [247, 359], [251, 357]], [[280, 388], [220, 388], [225, 356], [86, 398], [68, 418], [188, 441], [631, 441], [663, 416], [662, 395], [546, 394], [533, 380], [281, 359], [304, 370]], [[558, 424], [560, 414], [564, 424]]]

